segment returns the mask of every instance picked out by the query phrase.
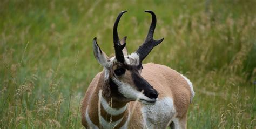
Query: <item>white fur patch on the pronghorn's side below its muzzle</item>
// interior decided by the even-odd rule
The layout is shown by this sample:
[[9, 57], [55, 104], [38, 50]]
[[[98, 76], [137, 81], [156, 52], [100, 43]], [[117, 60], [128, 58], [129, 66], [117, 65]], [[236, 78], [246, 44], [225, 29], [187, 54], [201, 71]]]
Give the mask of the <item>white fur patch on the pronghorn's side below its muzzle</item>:
[[154, 105], [143, 105], [141, 110], [145, 128], [166, 128], [176, 114], [170, 97], [159, 99]]

